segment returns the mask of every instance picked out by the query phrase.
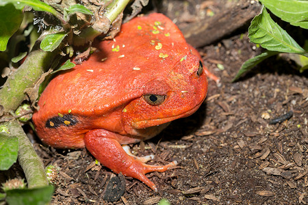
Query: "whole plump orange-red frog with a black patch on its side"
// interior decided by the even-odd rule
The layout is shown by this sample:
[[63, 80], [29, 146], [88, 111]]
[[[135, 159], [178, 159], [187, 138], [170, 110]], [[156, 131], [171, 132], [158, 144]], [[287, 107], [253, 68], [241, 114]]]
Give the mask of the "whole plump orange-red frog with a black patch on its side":
[[86, 148], [113, 172], [138, 178], [176, 165], [146, 165], [123, 150], [194, 113], [207, 77], [197, 51], [162, 14], [125, 23], [114, 40], [94, 44], [83, 64], [57, 75], [34, 113], [38, 136], [55, 148]]

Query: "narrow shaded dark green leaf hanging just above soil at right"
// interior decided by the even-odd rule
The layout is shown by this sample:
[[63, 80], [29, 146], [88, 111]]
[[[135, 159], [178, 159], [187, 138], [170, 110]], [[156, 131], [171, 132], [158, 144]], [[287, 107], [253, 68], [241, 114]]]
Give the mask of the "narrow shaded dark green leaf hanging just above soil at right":
[[260, 55], [257, 55], [251, 59], [248, 59], [247, 61], [244, 62], [244, 64], [242, 64], [240, 70], [235, 75], [234, 79], [232, 79], [232, 82], [240, 79], [240, 77], [242, 76], [244, 72], [248, 72], [248, 70], [251, 70], [251, 68], [261, 63], [261, 61], [264, 61], [264, 59], [267, 59], [268, 57], [271, 57], [272, 55], [277, 55], [278, 53], [279, 52], [277, 51], [265, 51], [264, 53], [261, 53]]

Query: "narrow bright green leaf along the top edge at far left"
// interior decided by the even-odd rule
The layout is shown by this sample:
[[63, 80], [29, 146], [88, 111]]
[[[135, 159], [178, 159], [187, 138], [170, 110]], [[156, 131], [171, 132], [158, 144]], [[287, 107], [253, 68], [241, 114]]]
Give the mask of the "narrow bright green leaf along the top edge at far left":
[[22, 10], [25, 7], [25, 5], [28, 5], [36, 11], [49, 12], [55, 16], [61, 15], [50, 5], [40, 0], [1, 0], [0, 1], [0, 5], [5, 5], [7, 3], [13, 3], [16, 9], [18, 10]]

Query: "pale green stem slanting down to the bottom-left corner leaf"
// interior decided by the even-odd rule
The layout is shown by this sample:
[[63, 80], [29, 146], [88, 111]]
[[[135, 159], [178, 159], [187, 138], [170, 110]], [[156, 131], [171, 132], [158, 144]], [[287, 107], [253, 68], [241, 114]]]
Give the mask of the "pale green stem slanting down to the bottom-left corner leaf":
[[28, 187], [44, 187], [49, 184], [47, 176], [44, 171], [44, 166], [40, 157], [36, 154], [32, 143], [29, 141], [27, 135], [18, 124], [17, 120], [1, 123], [9, 128], [10, 137], [18, 138], [18, 162], [25, 172]]

